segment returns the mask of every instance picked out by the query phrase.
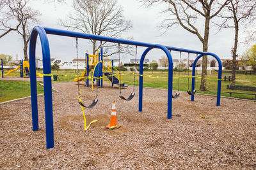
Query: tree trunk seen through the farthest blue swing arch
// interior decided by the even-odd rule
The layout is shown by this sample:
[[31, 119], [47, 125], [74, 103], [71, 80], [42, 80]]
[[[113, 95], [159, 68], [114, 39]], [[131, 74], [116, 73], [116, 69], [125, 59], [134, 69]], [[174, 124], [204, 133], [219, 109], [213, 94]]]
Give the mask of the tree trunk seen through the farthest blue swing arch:
[[[205, 31], [204, 31], [204, 41], [203, 43], [203, 52], [208, 52], [208, 40], [209, 40], [209, 27], [210, 25], [210, 17], [205, 17]], [[201, 79], [201, 85], [200, 90], [206, 91], [206, 76], [207, 76], [207, 55], [204, 55], [203, 57], [203, 63], [202, 63], [202, 79]]]

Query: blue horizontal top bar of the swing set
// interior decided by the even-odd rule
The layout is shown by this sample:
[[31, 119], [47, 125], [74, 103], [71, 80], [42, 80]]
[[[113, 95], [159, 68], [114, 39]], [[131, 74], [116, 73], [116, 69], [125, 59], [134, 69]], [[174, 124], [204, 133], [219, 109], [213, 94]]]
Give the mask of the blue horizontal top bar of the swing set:
[[[53, 34], [53, 35], [59, 35], [59, 36], [69, 36], [69, 37], [75, 37], [75, 38], [77, 37], [77, 38], [83, 38], [83, 39], [95, 39], [95, 40], [99, 40], [99, 41], [108, 41], [111, 43], [120, 43], [120, 44], [125, 44], [125, 45], [136, 45], [136, 46], [145, 46], [145, 47], [153, 47], [154, 46], [154, 44], [150, 44], [150, 43], [143, 43], [143, 42], [139, 42], [139, 41], [131, 41], [131, 40], [126, 40], [126, 39], [118, 39], [118, 38], [109, 38], [106, 36], [84, 34], [81, 32], [65, 31], [65, 30], [61, 30], [61, 29], [51, 29], [51, 28], [47, 28], [47, 27], [44, 27], [44, 29], [47, 34]], [[198, 53], [198, 54], [204, 54], [204, 55], [208, 54], [205, 52], [188, 50], [188, 49], [184, 49], [184, 48], [176, 48], [173, 46], [166, 46], [166, 48], [168, 48], [168, 50], [177, 51], [177, 52]]]

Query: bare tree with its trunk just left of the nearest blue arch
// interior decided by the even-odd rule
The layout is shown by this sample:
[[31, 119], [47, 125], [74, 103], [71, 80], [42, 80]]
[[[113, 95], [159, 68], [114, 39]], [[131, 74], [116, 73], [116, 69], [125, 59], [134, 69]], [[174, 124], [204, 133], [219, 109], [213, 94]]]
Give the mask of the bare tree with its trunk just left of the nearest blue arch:
[[29, 5], [29, 0], [8, 0], [8, 8], [10, 15], [20, 23], [17, 28], [18, 34], [22, 36], [24, 43], [24, 60], [28, 60], [28, 43], [30, 39], [31, 28], [38, 24], [37, 17], [41, 14], [39, 11], [33, 10]]

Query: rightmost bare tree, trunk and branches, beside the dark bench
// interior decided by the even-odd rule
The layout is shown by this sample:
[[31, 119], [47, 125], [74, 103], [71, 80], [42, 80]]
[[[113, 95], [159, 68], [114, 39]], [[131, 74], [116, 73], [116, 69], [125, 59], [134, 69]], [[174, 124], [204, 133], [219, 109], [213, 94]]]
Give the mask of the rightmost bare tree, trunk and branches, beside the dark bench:
[[[239, 28], [242, 24], [252, 22], [256, 16], [256, 1], [250, 0], [232, 0], [227, 6], [227, 12], [221, 13], [219, 17], [223, 18], [220, 28], [233, 28], [235, 29], [234, 35], [234, 48], [232, 48], [232, 78], [231, 85], [236, 85], [236, 69], [237, 69], [237, 46], [239, 37]], [[246, 22], [247, 21], [247, 22]], [[248, 25], [246, 25], [248, 26]]]

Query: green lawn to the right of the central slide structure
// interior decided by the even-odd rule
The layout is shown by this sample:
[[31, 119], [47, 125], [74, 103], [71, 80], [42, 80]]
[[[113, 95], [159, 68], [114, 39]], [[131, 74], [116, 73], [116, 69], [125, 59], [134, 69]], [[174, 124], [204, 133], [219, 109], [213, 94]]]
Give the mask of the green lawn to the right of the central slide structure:
[[[152, 74], [152, 71], [144, 71], [144, 74]], [[143, 87], [153, 87], [159, 89], [168, 89], [168, 72], [164, 71], [154, 71], [154, 76], [159, 76], [159, 78], [150, 78], [147, 76], [143, 76]], [[178, 82], [179, 82], [179, 90], [180, 91], [187, 91], [188, 89], [191, 90], [191, 78], [189, 78], [189, 86], [188, 86], [188, 78], [175, 78], [179, 76], [179, 73], [173, 74], [173, 90], [178, 90]], [[180, 73], [180, 76], [188, 76], [187, 73]], [[191, 76], [191, 72], [189, 72], [189, 76]], [[200, 76], [200, 75], [198, 75]], [[212, 74], [207, 75], [207, 91], [200, 91], [200, 78], [196, 78], [195, 82], [195, 89], [197, 93], [202, 94], [212, 94], [217, 95], [217, 85], [218, 85], [218, 73], [212, 72]], [[133, 85], [133, 76], [132, 75], [125, 75], [123, 77], [123, 82], [128, 85]], [[136, 85], [139, 83], [139, 78], [136, 76]], [[230, 92], [231, 90], [227, 90], [227, 85], [230, 85], [230, 81], [222, 81], [221, 82], [221, 96], [229, 97], [230, 94], [225, 92]], [[244, 74], [237, 74], [236, 75], [236, 85], [244, 85], [244, 86], [251, 86], [256, 87], [256, 75], [244, 75]], [[244, 92], [244, 93], [252, 93], [255, 94], [256, 92], [248, 92], [243, 90], [234, 90], [235, 92]], [[175, 94], [175, 92], [173, 92]], [[243, 99], [254, 99], [255, 96], [253, 95], [246, 95], [246, 94], [232, 94], [232, 97], [243, 98]]]

